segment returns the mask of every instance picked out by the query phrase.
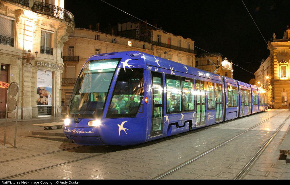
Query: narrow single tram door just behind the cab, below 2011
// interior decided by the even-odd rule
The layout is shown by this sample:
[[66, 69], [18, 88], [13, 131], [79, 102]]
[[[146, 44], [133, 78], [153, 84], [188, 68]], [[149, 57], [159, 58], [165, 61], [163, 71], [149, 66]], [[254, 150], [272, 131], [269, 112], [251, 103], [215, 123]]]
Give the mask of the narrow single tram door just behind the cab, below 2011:
[[152, 121], [150, 137], [162, 135], [164, 90], [162, 73], [152, 72]]

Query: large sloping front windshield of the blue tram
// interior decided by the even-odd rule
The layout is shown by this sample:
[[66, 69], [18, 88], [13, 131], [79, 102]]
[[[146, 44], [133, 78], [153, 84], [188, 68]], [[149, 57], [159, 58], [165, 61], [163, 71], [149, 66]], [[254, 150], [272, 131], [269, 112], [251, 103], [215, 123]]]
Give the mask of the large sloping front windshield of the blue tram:
[[87, 61], [70, 98], [68, 106], [70, 116], [102, 117], [108, 89], [120, 60], [117, 58]]

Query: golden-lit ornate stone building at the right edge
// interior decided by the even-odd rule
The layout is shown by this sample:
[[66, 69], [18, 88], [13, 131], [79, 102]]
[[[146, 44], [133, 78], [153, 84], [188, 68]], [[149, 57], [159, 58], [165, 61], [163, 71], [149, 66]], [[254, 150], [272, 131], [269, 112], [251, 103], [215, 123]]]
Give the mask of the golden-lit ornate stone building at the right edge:
[[290, 103], [290, 29], [282, 39], [268, 42], [270, 56], [261, 62], [255, 74], [255, 85], [268, 90], [269, 105], [272, 108], [287, 108]]

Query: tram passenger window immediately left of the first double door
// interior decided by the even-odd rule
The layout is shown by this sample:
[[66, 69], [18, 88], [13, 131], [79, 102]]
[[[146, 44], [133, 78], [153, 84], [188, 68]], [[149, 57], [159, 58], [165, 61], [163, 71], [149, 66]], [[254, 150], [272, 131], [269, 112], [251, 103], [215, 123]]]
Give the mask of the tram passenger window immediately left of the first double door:
[[182, 111], [194, 110], [193, 79], [182, 77]]

